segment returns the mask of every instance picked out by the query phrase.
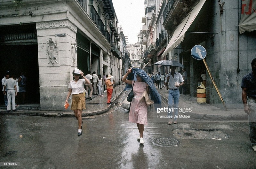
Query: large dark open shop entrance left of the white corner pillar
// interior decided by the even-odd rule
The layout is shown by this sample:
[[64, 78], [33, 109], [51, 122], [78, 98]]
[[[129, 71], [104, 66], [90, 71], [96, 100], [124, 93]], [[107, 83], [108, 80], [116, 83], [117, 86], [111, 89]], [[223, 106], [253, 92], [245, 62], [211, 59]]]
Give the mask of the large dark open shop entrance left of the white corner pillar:
[[[6, 71], [13, 73], [14, 79], [23, 72], [27, 79], [25, 103], [40, 103], [36, 24], [0, 27], [0, 59], [1, 80]], [[0, 86], [2, 90], [2, 83]], [[4, 105], [3, 93], [1, 96], [0, 105]]]

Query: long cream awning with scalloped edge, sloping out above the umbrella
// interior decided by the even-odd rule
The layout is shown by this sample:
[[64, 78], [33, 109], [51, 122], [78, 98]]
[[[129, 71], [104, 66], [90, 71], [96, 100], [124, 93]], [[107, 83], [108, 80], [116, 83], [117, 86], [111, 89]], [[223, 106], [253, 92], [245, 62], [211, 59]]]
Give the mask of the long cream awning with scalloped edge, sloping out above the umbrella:
[[206, 0], [200, 0], [196, 6], [189, 12], [188, 16], [180, 23], [180, 25], [175, 29], [170, 42], [168, 43], [163, 55], [167, 55], [172, 49], [178, 46], [185, 37], [185, 32], [188, 30], [190, 25], [195, 20], [197, 14], [203, 7]]

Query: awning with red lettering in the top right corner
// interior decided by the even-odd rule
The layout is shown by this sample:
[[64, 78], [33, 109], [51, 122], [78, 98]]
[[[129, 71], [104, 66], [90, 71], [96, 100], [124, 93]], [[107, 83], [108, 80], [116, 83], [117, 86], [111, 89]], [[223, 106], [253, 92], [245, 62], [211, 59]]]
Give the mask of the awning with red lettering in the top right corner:
[[241, 19], [239, 23], [240, 34], [245, 31], [252, 32], [256, 30], [256, 1], [243, 0]]

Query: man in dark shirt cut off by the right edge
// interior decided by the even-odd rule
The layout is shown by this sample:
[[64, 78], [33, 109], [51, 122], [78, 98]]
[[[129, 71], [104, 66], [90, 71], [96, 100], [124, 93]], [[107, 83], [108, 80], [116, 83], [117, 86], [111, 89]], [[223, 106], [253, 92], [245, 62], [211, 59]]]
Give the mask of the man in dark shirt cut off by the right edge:
[[249, 119], [249, 137], [252, 149], [256, 152], [256, 58], [252, 60], [252, 72], [242, 78], [242, 101], [244, 112]]

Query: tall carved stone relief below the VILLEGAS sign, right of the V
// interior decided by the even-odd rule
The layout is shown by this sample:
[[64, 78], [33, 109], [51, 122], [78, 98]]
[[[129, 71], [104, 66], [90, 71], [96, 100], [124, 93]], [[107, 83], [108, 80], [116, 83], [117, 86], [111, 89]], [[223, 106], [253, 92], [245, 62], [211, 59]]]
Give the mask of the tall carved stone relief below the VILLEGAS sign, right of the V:
[[60, 66], [59, 60], [59, 48], [58, 48], [58, 42], [53, 41], [52, 38], [50, 38], [47, 42], [47, 66]]

